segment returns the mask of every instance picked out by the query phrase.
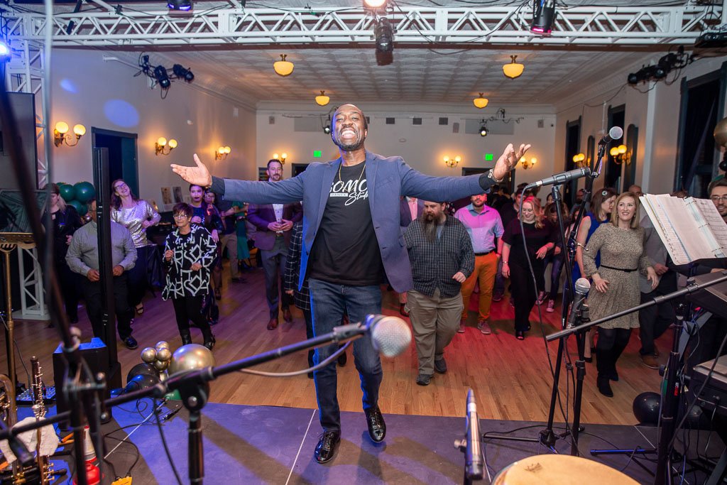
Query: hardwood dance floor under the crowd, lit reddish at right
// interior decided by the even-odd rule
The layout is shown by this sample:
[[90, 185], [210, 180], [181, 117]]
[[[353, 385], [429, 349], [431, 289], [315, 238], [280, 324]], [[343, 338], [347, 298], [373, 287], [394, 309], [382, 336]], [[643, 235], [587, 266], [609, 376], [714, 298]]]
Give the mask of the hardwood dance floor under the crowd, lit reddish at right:
[[[225, 268], [225, 278], [228, 277]], [[217, 364], [226, 364], [239, 358], [252, 356], [281, 345], [305, 339], [305, 323], [302, 313], [293, 309], [294, 320], [281, 324], [274, 331], [265, 329], [268, 322], [268, 308], [265, 303], [265, 289], [262, 270], [244, 273], [246, 283], [227, 284], [222, 290], [220, 302], [220, 324], [213, 327], [217, 337], [214, 357]], [[383, 313], [398, 316], [398, 300], [393, 292], [384, 289]], [[471, 308], [476, 308], [476, 294]], [[560, 310], [546, 313], [542, 307], [545, 332], [559, 328]], [[85, 310], [79, 308], [79, 327], [84, 341], [92, 336], [91, 326]], [[551, 377], [548, 366], [542, 327], [538, 321], [537, 308], [531, 313], [532, 330], [526, 340], [515, 340], [513, 332], [513, 308], [507, 297], [494, 302], [492, 308], [493, 334], [483, 335], [476, 328], [476, 313], [470, 311], [465, 334], [457, 334], [446, 350], [449, 372], [436, 374], [432, 383], [422, 387], [416, 384], [417, 353], [411, 348], [396, 358], [382, 358], [384, 380], [379, 405], [382, 412], [395, 414], [419, 414], [428, 416], [463, 416], [467, 388], [473, 388], [478, 401], [478, 412], [483, 419], [546, 421], [550, 404]], [[171, 302], [161, 300], [161, 294], [145, 299], [145, 312], [134, 321], [134, 337], [139, 341], [137, 350], [128, 350], [121, 342], [121, 361], [124, 380], [126, 372], [140, 362], [140, 350], [153, 346], [159, 340], [166, 340], [172, 348], [181, 345], [174, 310]], [[201, 334], [193, 329], [193, 341], [201, 343]], [[5, 349], [4, 332], [0, 332], [0, 348]], [[638, 356], [638, 332], [633, 332], [631, 342], [619, 360], [621, 380], [611, 384], [614, 397], [606, 398], [595, 387], [595, 364], [586, 364], [582, 423], [632, 425], [636, 423], [632, 414], [632, 401], [643, 391], [659, 390], [660, 377], [654, 369], [644, 366]], [[39, 357], [44, 369], [45, 380], [52, 384], [52, 352], [58, 345], [57, 329], [48, 329], [43, 321], [15, 321], [17, 347], [22, 353], [25, 366], [30, 367], [30, 358]], [[657, 342], [664, 364], [670, 348], [671, 333], [667, 332]], [[547, 345], [550, 358], [555, 365], [555, 342]], [[571, 356], [575, 358], [573, 339], [569, 341]], [[17, 355], [17, 354], [16, 354]], [[18, 358], [18, 379], [28, 380]], [[278, 361], [258, 366], [269, 372], [291, 372], [305, 367], [305, 352]], [[7, 356], [0, 356], [0, 372], [7, 372]], [[573, 385], [570, 378], [561, 378], [561, 396], [566, 398], [566, 380], [572, 402]], [[353, 356], [348, 350], [348, 364], [338, 370], [338, 396], [342, 411], [361, 411], [361, 388], [358, 373], [353, 366]], [[125, 382], [124, 382], [125, 383]], [[316, 408], [316, 393], [313, 380], [304, 375], [298, 377], [271, 378], [249, 374], [230, 374], [212, 382], [212, 402], [228, 404], [292, 406]], [[569, 416], [569, 420], [571, 417]], [[555, 420], [562, 422], [557, 412]]]

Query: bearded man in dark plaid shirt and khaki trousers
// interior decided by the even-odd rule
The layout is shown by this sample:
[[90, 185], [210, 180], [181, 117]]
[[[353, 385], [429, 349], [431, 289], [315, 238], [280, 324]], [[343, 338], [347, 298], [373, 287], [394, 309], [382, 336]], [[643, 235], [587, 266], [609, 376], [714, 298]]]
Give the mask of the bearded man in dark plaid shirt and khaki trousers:
[[446, 215], [441, 202], [424, 202], [404, 241], [414, 278], [407, 298], [419, 358], [417, 384], [428, 385], [434, 371], [447, 372], [444, 349], [459, 328], [459, 290], [475, 268], [475, 253], [465, 225]]

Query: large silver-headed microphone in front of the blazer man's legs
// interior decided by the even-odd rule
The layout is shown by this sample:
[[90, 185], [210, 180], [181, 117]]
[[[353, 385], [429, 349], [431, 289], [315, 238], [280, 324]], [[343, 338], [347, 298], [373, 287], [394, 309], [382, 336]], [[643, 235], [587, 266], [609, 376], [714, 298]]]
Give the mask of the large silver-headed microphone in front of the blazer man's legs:
[[395, 357], [411, 345], [411, 329], [401, 318], [387, 315], [367, 315], [358, 324], [335, 326], [334, 342], [369, 333], [374, 349], [386, 357]]

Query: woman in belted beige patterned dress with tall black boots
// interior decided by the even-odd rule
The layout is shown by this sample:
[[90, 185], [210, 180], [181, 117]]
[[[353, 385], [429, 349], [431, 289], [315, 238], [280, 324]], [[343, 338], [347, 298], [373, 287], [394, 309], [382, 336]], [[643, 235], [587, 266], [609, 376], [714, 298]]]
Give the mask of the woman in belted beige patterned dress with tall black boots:
[[[644, 231], [639, 227], [638, 200], [630, 192], [616, 198], [611, 223], [601, 224], [583, 252], [585, 274], [593, 278], [588, 294], [591, 320], [613, 315], [640, 303], [639, 273], [659, 284], [659, 276], [643, 249]], [[601, 265], [595, 257], [601, 252]], [[595, 288], [595, 291], [593, 289]], [[638, 312], [614, 318], [598, 326], [595, 355], [598, 367], [598, 390], [603, 396], [614, 396], [611, 380], [619, 380], [616, 361], [626, 348], [631, 329], [638, 328]]]

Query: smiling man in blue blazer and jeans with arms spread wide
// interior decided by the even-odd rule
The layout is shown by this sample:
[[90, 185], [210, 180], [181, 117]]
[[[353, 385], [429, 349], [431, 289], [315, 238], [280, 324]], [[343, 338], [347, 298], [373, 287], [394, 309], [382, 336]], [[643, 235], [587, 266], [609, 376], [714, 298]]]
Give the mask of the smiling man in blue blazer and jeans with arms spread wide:
[[[381, 313], [379, 284], [387, 278], [397, 292], [413, 284], [409, 254], [400, 226], [399, 197], [441, 201], [482, 193], [501, 182], [530, 145], [515, 151], [508, 145], [494, 169], [469, 177], [430, 177], [409, 167], [401, 157], [383, 157], [366, 151], [368, 121], [354, 105], [341, 105], [334, 112], [331, 137], [340, 157], [313, 163], [297, 177], [278, 183], [223, 180], [212, 177], [194, 156], [196, 167], [172, 164], [183, 179], [195, 180], [235, 200], [258, 204], [303, 200], [303, 249], [298, 285], [308, 277], [313, 302], [313, 331], [329, 332], [340, 324], [344, 311], [350, 321], [362, 321], [369, 313]], [[316, 349], [316, 362], [328, 358], [336, 344]], [[381, 361], [371, 335], [353, 342], [353, 358], [364, 391], [364, 412], [369, 436], [374, 442], [386, 435], [379, 410]], [[314, 457], [319, 463], [334, 457], [341, 440], [341, 421], [335, 362], [313, 374], [321, 426]]]

